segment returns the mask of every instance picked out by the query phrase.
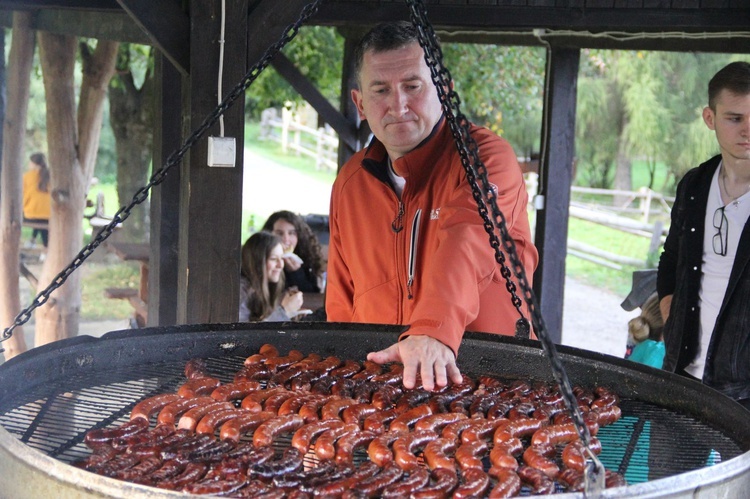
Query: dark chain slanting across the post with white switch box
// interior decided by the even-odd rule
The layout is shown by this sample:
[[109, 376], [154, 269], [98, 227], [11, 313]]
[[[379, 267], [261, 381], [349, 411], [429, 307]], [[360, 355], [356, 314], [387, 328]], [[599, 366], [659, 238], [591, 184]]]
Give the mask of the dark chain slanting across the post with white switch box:
[[[182, 161], [182, 158], [185, 156], [188, 150], [190, 150], [190, 148], [193, 147], [195, 143], [198, 142], [201, 137], [203, 137], [203, 135], [205, 135], [208, 129], [211, 128], [219, 120], [224, 112], [229, 109], [229, 107], [244, 94], [245, 90], [247, 90], [247, 88], [252, 85], [252, 83], [258, 78], [260, 73], [271, 63], [271, 60], [276, 56], [276, 54], [278, 54], [279, 51], [284, 48], [287, 43], [292, 41], [294, 37], [297, 36], [299, 28], [318, 11], [318, 8], [320, 7], [320, 4], [323, 3], [323, 1], [324, 0], [314, 0], [302, 9], [302, 12], [300, 13], [297, 21], [295, 21], [293, 24], [288, 25], [284, 29], [284, 32], [282, 33], [279, 41], [266, 49], [260, 60], [256, 62], [252, 68], [250, 68], [250, 70], [245, 74], [242, 80], [240, 80], [240, 82], [235, 85], [235, 87], [231, 90], [231, 92], [229, 92], [224, 100], [221, 101], [216, 109], [214, 109], [213, 112], [203, 120], [200, 126], [193, 131], [193, 133], [182, 144], [182, 147], [172, 152], [172, 154], [169, 155], [169, 158], [167, 158], [164, 166], [154, 172], [145, 186], [138, 189], [138, 191], [133, 195], [130, 203], [127, 206], [121, 207], [112, 217], [112, 221], [102, 227], [101, 230], [97, 233], [96, 237], [86, 246], [84, 246], [84, 248], [76, 255], [76, 257], [70, 264], [68, 264], [67, 267], [65, 267], [59, 274], [57, 274], [57, 276], [52, 280], [49, 286], [47, 286], [43, 291], [36, 295], [31, 305], [23, 309], [16, 316], [13, 324], [3, 331], [3, 336], [2, 338], [0, 338], [0, 343], [10, 338], [13, 335], [13, 330], [16, 327], [22, 326], [23, 324], [28, 322], [29, 319], [31, 319], [32, 312], [36, 308], [44, 305], [47, 300], [49, 300], [52, 292], [62, 286], [68, 279], [68, 277], [70, 277], [70, 274], [75, 272], [81, 265], [83, 265], [83, 262], [89, 256], [91, 256], [94, 250], [98, 248], [99, 245], [102, 244], [109, 236], [112, 235], [115, 228], [117, 228], [119, 224], [127, 220], [133, 208], [148, 199], [148, 193], [151, 188], [155, 185], [161, 184], [164, 181], [167, 172], [173, 166]], [[0, 353], [4, 351], [4, 349], [0, 348]]]

